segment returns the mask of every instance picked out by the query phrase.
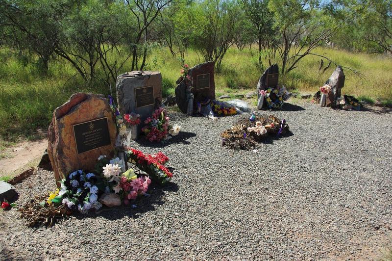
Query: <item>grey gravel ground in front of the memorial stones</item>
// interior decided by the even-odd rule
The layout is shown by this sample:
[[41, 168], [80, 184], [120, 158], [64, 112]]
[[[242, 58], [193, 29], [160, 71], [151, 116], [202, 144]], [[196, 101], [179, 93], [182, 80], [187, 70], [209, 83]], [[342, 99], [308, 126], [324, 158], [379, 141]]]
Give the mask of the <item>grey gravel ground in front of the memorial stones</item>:
[[[392, 114], [298, 105], [272, 112], [293, 135], [256, 153], [221, 147], [238, 115], [171, 113], [183, 131], [170, 143], [132, 144], [170, 157], [170, 187], [49, 229], [3, 211], [0, 260], [376, 259], [392, 235]], [[40, 170], [17, 203], [54, 186]]]

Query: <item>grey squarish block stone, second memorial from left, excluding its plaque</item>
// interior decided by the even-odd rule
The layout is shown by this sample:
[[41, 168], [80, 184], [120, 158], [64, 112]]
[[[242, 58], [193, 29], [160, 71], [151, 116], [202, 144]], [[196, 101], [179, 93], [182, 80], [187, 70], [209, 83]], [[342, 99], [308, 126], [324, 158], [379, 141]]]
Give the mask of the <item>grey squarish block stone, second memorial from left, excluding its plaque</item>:
[[[136, 107], [135, 88], [153, 86], [155, 104]], [[117, 77], [117, 103], [121, 114], [135, 112], [143, 122], [162, 103], [162, 76], [160, 72], [132, 71]], [[139, 126], [142, 128], [141, 125]]]

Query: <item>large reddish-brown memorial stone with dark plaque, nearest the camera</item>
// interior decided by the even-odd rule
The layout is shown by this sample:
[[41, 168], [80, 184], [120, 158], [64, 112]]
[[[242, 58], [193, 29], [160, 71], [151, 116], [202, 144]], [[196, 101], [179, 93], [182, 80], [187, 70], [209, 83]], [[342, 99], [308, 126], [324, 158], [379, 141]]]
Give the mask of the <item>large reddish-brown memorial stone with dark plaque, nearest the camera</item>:
[[[103, 118], [107, 119], [107, 128]], [[95, 121], [98, 119], [101, 120]], [[79, 126], [75, 130], [83, 133], [74, 135], [74, 125], [86, 122], [89, 122], [84, 125], [86, 130]], [[93, 134], [88, 134], [90, 130]], [[56, 181], [76, 169], [93, 170], [99, 155], [109, 157], [112, 153], [116, 136], [117, 127], [107, 99], [102, 95], [73, 94], [68, 102], [54, 110], [48, 129], [48, 155]]]

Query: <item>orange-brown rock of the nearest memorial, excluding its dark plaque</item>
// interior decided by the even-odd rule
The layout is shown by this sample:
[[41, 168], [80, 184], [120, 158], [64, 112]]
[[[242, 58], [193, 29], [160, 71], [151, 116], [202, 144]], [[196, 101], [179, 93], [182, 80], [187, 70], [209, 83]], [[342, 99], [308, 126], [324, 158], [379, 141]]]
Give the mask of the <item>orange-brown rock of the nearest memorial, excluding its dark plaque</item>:
[[[107, 117], [111, 144], [77, 154], [73, 125]], [[103, 96], [76, 93], [56, 108], [48, 129], [48, 155], [56, 181], [75, 169], [94, 169], [99, 155], [110, 155], [114, 148], [117, 127], [109, 102]]]

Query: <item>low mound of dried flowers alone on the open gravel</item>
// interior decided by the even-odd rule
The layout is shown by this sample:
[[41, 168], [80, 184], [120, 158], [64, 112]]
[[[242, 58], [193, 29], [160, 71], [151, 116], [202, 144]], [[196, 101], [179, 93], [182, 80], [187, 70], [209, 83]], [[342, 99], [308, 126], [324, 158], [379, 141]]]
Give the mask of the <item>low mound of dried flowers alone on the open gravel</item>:
[[230, 149], [251, 150], [267, 135], [280, 135], [289, 130], [285, 120], [280, 120], [273, 115], [241, 118], [230, 129], [221, 133], [222, 145]]

